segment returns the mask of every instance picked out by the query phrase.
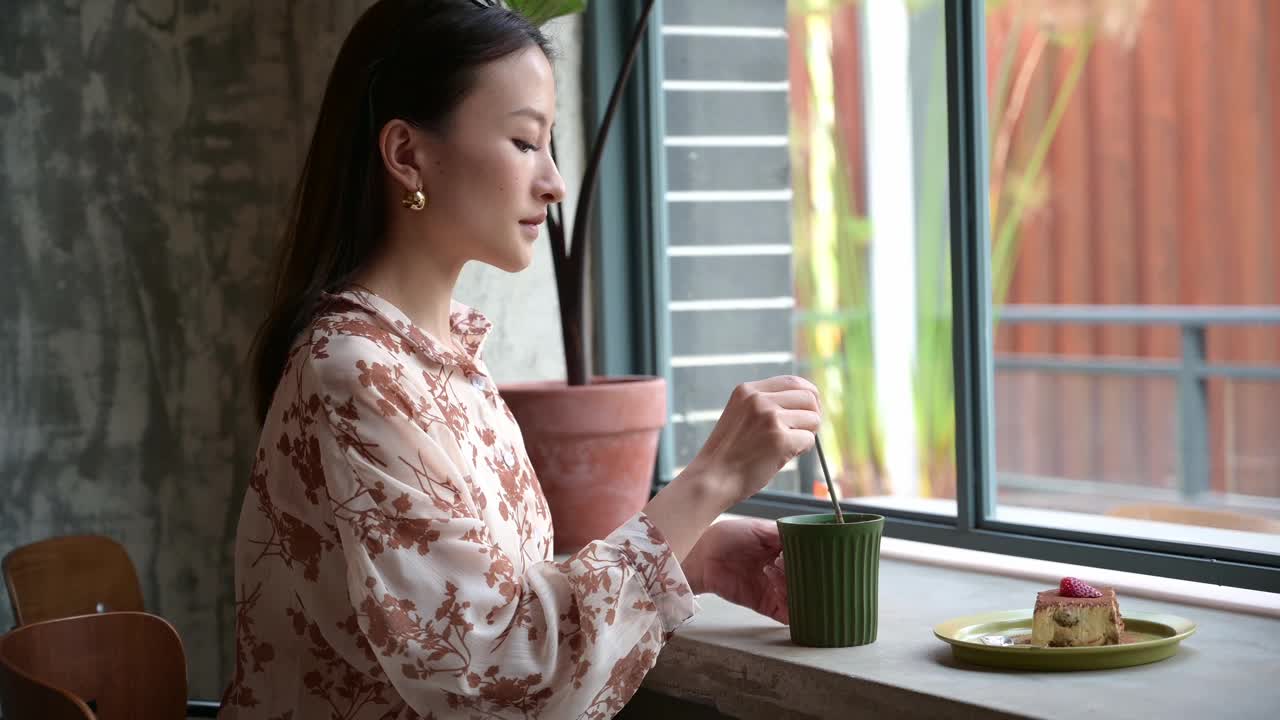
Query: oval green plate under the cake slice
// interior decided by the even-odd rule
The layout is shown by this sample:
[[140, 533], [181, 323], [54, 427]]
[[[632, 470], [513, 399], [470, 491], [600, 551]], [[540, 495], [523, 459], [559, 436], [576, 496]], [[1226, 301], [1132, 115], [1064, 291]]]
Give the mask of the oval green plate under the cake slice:
[[1178, 643], [1196, 632], [1196, 623], [1175, 615], [1125, 612], [1125, 641], [1101, 647], [1034, 647], [1027, 610], [984, 612], [947, 620], [933, 628], [951, 646], [956, 660], [1011, 670], [1110, 670], [1156, 662], [1178, 652]]

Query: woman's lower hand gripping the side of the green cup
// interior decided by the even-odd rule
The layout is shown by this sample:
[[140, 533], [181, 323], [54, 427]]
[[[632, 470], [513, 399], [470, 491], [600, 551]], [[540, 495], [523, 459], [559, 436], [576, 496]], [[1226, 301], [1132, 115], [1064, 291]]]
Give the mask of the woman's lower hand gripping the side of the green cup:
[[782, 539], [771, 520], [741, 518], [707, 528], [684, 562], [696, 593], [714, 593], [783, 625], [787, 580]]

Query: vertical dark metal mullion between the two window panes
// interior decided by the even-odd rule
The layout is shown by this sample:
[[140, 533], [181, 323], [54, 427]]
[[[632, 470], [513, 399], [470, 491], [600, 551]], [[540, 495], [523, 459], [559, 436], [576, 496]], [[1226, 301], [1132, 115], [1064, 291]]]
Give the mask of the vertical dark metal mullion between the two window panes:
[[979, 528], [995, 509], [984, 24], [986, 8], [980, 0], [947, 0], [951, 356], [960, 532]]

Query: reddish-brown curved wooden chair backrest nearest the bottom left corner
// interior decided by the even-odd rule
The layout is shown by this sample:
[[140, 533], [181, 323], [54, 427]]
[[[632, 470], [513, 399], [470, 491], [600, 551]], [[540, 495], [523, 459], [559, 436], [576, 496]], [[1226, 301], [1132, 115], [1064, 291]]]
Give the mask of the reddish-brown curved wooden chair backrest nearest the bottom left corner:
[[14, 628], [0, 637], [0, 708], [5, 720], [180, 720], [182, 639], [146, 612]]

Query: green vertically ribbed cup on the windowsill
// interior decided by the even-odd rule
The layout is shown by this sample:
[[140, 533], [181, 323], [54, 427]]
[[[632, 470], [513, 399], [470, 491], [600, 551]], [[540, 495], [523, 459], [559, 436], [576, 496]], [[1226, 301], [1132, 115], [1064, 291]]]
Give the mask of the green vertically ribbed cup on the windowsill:
[[787, 568], [791, 642], [849, 647], [876, 642], [879, 620], [879, 538], [884, 518], [845, 512], [778, 520]]

